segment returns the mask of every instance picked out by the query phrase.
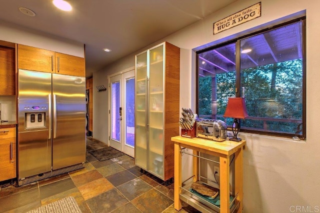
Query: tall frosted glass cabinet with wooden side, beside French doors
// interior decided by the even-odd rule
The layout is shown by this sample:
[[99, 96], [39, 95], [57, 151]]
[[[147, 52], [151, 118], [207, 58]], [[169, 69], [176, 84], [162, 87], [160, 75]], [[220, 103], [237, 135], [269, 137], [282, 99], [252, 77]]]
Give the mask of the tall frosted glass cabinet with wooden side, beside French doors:
[[174, 171], [179, 72], [180, 49], [168, 42], [135, 56], [135, 164], [163, 180]]

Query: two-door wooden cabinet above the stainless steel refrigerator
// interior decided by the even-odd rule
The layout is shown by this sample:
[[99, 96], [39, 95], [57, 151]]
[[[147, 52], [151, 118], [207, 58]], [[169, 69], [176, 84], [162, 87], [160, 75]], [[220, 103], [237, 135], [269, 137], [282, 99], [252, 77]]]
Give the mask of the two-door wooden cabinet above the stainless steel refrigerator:
[[19, 69], [85, 76], [83, 57], [18, 44], [17, 58]]

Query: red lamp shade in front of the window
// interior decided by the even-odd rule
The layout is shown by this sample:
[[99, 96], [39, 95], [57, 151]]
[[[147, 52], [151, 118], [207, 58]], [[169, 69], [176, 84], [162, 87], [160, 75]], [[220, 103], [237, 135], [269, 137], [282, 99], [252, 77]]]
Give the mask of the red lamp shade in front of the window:
[[245, 118], [248, 116], [242, 97], [229, 97], [223, 117]]

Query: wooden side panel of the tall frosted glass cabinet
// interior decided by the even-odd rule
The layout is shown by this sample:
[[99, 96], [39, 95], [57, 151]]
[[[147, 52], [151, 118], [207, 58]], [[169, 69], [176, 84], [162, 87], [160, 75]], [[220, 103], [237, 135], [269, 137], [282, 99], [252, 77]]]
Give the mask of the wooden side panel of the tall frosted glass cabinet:
[[174, 143], [179, 135], [180, 48], [165, 42], [164, 179], [174, 175]]

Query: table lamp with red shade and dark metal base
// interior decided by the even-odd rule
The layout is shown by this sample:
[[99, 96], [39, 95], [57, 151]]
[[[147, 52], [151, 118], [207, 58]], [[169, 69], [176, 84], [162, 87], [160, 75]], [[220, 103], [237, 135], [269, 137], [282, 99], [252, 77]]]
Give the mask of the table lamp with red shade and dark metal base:
[[241, 138], [237, 137], [237, 134], [240, 129], [239, 125], [239, 118], [245, 118], [248, 116], [248, 113], [246, 112], [246, 107], [245, 107], [245, 101], [244, 98], [242, 97], [229, 97], [228, 102], [226, 104], [226, 109], [224, 112], [223, 117], [232, 117], [233, 118], [233, 123], [232, 123], [232, 132], [233, 132], [233, 137], [230, 137], [229, 140], [233, 141], [240, 141]]

